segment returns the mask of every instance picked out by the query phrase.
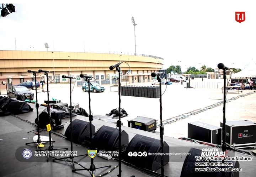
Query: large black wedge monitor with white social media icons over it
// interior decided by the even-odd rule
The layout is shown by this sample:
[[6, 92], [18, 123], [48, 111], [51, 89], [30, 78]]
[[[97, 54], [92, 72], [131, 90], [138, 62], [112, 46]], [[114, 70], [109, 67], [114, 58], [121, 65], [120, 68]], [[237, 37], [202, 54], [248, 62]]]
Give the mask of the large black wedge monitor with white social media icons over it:
[[[134, 152], [138, 155], [132, 155]], [[143, 155], [145, 152], [147, 153], [146, 156]], [[164, 141], [164, 153], [169, 152], [169, 145]], [[152, 155], [150, 155], [150, 153], [152, 153]], [[161, 155], [155, 155], [155, 153], [160, 153], [160, 139], [154, 139], [137, 134], [128, 144], [124, 158], [126, 162], [137, 167], [156, 171], [161, 167]], [[169, 155], [164, 155], [164, 165], [169, 162], [169, 158]]]

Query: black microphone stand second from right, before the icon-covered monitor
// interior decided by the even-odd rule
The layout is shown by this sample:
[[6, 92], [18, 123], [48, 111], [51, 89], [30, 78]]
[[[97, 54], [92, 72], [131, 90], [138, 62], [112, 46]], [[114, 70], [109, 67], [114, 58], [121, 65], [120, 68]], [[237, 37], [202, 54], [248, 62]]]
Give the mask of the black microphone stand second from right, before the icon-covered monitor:
[[164, 126], [162, 123], [162, 80], [159, 77], [159, 75], [156, 78], [159, 82], [159, 102], [160, 102], [160, 153], [161, 153], [161, 177], [164, 177], [164, 140], [163, 140], [163, 135], [164, 135]]

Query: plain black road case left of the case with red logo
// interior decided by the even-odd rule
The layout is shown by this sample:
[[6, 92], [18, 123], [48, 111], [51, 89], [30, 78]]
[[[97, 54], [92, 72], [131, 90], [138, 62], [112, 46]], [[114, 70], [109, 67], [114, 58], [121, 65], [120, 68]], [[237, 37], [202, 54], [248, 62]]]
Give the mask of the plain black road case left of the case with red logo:
[[188, 138], [221, 145], [222, 127], [199, 121], [191, 122], [188, 123]]

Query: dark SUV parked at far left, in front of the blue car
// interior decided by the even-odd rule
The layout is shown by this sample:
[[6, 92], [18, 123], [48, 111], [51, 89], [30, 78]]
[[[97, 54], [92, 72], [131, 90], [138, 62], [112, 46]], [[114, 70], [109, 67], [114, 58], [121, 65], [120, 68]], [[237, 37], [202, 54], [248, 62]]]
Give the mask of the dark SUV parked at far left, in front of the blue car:
[[34, 93], [25, 86], [13, 85], [7, 90], [8, 98], [17, 98], [19, 95], [25, 95], [30, 100], [34, 99]]

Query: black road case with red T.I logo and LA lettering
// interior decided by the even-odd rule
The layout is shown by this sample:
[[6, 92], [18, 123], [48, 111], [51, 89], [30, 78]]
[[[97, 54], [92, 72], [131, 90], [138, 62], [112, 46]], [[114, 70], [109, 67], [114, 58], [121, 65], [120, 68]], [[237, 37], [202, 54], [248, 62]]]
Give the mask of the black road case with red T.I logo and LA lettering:
[[[220, 122], [223, 127], [223, 122]], [[250, 120], [226, 121], [225, 141], [229, 147], [256, 147], [256, 122]]]

